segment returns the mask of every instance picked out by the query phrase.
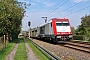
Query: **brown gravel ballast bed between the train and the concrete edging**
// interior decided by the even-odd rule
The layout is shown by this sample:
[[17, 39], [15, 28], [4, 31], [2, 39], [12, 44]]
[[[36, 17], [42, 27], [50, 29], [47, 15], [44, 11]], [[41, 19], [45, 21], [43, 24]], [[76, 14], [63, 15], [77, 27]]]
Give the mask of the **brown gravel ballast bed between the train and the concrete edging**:
[[89, 53], [65, 47], [66, 44], [51, 44], [36, 39], [33, 39], [32, 41], [57, 55], [61, 60], [90, 60]]

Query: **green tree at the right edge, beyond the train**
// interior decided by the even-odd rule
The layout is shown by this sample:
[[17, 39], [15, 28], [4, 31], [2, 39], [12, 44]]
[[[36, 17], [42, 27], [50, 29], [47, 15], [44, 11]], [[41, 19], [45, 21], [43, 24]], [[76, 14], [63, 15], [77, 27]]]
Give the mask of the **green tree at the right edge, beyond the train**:
[[81, 18], [81, 25], [78, 26], [77, 31], [81, 35], [89, 35], [90, 34], [90, 15], [85, 15]]

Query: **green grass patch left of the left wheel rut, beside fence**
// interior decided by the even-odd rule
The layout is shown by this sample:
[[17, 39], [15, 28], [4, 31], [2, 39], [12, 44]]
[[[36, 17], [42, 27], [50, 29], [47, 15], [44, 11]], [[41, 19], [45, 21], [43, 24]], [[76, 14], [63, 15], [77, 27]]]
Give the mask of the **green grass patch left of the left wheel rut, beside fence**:
[[13, 50], [15, 43], [11, 42], [6, 45], [6, 48], [0, 51], [0, 60], [5, 60], [6, 56]]

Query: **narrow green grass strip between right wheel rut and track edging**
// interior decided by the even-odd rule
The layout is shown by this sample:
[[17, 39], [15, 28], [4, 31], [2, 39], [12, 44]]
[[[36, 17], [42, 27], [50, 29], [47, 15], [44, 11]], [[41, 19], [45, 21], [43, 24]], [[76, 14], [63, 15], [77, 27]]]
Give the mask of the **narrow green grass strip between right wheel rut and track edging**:
[[30, 48], [33, 50], [33, 52], [36, 54], [39, 60], [51, 60], [47, 55], [42, 53], [37, 47], [35, 47], [29, 39], [26, 38], [26, 41], [29, 43]]

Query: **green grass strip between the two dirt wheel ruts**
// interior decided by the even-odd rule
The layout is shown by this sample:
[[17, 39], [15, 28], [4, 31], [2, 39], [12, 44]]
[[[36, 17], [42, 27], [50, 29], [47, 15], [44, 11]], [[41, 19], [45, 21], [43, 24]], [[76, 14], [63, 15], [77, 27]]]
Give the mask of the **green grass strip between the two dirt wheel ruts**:
[[17, 52], [14, 56], [14, 60], [27, 60], [27, 53], [23, 38], [20, 39], [20, 43], [18, 45]]

